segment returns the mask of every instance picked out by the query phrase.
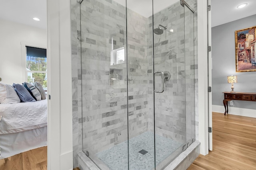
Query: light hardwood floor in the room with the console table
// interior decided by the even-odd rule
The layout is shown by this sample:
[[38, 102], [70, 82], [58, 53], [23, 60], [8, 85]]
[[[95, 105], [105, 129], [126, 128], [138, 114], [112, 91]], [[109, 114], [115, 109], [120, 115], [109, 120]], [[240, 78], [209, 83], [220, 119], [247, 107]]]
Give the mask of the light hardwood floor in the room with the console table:
[[256, 118], [212, 113], [213, 151], [188, 170], [256, 170]]

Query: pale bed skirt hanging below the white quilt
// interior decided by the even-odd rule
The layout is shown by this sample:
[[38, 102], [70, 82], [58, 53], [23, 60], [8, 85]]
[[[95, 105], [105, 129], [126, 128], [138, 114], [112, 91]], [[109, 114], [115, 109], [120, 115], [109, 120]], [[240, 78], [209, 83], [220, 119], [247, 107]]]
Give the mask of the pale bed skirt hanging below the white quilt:
[[47, 126], [0, 135], [0, 159], [47, 146]]

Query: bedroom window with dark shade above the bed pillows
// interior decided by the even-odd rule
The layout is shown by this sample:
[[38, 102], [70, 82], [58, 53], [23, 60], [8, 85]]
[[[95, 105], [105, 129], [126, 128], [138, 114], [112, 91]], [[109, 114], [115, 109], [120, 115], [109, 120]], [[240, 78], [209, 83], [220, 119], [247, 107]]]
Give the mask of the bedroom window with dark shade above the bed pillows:
[[26, 80], [33, 84], [39, 82], [47, 89], [46, 49], [26, 46]]

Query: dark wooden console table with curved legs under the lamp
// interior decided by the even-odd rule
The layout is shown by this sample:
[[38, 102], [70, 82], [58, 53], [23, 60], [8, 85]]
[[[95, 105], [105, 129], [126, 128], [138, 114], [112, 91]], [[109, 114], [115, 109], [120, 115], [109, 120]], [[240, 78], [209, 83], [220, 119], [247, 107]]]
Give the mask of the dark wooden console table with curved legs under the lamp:
[[244, 93], [244, 92], [235, 92], [235, 93], [222, 92], [222, 93], [224, 93], [224, 100], [223, 100], [223, 105], [225, 107], [224, 115], [226, 115], [226, 113], [228, 114], [228, 102], [231, 100], [256, 102], [256, 93]]

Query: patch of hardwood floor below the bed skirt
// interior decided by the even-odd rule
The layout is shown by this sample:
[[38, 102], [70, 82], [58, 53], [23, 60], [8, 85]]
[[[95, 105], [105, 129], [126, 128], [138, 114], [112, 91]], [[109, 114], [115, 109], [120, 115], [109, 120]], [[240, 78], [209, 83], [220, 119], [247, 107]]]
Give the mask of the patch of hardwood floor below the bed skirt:
[[0, 170], [47, 170], [47, 147], [1, 159]]

